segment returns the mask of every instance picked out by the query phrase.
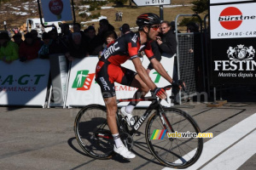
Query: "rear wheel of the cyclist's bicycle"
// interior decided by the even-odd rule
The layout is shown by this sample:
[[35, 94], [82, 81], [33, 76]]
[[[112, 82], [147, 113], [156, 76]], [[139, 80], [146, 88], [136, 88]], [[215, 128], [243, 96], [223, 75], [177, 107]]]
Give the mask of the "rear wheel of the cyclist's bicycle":
[[74, 131], [79, 145], [88, 155], [97, 159], [109, 159], [114, 155], [105, 106], [87, 105], [81, 109], [74, 122]]

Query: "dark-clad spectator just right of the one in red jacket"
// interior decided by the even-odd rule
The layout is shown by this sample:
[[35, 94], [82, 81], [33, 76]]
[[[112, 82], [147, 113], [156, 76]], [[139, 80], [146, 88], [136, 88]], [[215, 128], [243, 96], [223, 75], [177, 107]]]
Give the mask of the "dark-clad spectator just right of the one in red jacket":
[[52, 39], [49, 35], [50, 33], [44, 32], [42, 35], [44, 45], [38, 51], [39, 58], [41, 59], [49, 59], [49, 46], [52, 43]]

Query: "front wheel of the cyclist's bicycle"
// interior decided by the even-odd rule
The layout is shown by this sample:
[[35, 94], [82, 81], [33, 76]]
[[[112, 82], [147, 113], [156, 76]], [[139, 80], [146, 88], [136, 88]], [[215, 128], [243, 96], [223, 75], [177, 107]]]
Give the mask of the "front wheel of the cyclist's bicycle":
[[[168, 138], [167, 133], [175, 131], [177, 133], [188, 133], [188, 131], [189, 133], [201, 133], [200, 128], [189, 114], [175, 108], [166, 108], [162, 116], [166, 127], [163, 126], [160, 115], [156, 112], [148, 119], [145, 134], [149, 150], [157, 160], [167, 167], [186, 168], [191, 166], [201, 156], [203, 139]], [[167, 131], [164, 137], [160, 135], [162, 129]]]

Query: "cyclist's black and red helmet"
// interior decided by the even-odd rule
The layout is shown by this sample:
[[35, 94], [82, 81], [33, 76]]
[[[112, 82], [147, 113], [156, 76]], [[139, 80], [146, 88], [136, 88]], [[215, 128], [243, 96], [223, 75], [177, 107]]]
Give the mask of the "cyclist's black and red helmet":
[[157, 14], [145, 13], [137, 17], [137, 26], [142, 28], [143, 26], [160, 25], [160, 17]]

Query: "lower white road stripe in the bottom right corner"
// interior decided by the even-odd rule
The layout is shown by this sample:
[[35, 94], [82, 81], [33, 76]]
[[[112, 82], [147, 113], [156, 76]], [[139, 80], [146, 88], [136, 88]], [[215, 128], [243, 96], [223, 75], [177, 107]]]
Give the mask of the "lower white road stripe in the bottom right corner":
[[226, 150], [223, 154], [203, 167], [207, 169], [237, 169], [256, 153], [256, 131]]

